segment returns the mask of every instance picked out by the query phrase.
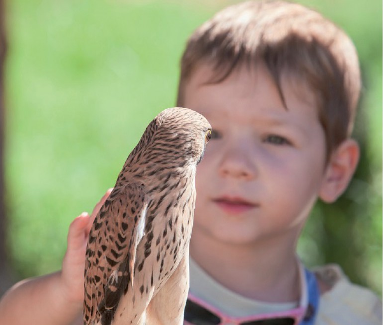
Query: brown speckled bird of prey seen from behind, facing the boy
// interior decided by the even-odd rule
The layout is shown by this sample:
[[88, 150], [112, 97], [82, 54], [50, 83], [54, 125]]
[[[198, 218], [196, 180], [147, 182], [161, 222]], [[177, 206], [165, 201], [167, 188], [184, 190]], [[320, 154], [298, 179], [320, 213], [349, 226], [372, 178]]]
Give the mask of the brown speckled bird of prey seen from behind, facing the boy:
[[167, 108], [128, 155], [89, 233], [84, 325], [182, 325], [196, 166], [211, 126]]

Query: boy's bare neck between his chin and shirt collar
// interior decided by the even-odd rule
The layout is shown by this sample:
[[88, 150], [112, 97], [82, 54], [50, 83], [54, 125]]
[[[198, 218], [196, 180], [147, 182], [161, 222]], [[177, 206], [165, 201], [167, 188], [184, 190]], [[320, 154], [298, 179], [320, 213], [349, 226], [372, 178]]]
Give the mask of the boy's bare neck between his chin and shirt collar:
[[264, 302], [292, 302], [300, 298], [295, 240], [263, 240], [233, 245], [195, 232], [191, 257], [217, 282], [244, 297]]

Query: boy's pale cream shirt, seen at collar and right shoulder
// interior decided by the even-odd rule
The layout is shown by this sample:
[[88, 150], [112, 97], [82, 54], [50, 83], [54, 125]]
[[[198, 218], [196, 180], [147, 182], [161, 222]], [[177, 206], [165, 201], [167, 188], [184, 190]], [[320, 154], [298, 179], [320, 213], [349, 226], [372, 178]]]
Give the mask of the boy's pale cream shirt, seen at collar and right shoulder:
[[[243, 297], [215, 281], [192, 258], [189, 260], [189, 292], [232, 317], [286, 311], [299, 305], [307, 306], [304, 267], [299, 264], [301, 291], [299, 301], [265, 303]], [[339, 266], [326, 265], [313, 271], [331, 287], [321, 295], [315, 325], [382, 324], [382, 302], [370, 290], [350, 283]]]

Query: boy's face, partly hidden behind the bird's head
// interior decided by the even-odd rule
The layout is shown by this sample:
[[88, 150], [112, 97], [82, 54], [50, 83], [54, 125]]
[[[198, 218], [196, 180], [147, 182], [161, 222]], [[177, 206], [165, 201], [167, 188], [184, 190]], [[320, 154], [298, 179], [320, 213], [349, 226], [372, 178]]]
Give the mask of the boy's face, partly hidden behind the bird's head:
[[184, 89], [183, 106], [213, 128], [197, 168], [193, 237], [296, 238], [325, 175], [325, 135], [313, 94], [282, 78], [285, 109], [262, 64], [206, 84], [211, 76], [202, 66]]

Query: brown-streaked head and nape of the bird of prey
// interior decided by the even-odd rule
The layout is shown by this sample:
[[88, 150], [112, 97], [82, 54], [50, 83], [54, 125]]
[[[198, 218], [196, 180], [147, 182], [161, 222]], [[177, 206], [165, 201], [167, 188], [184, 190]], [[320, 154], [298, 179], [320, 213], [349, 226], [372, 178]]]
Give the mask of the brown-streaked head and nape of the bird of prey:
[[190, 175], [203, 157], [210, 134], [211, 126], [201, 114], [181, 107], [165, 109], [147, 126], [119, 179], [126, 179], [126, 173], [146, 182], [160, 174]]

